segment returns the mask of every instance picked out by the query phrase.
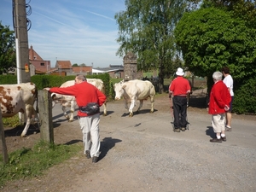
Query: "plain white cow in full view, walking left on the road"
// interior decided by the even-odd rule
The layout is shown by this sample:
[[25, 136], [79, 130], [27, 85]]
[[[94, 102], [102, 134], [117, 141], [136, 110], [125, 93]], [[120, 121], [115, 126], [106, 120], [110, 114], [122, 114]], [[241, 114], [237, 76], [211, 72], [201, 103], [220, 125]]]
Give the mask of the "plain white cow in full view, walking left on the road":
[[130, 80], [130, 81], [121, 81], [113, 85], [115, 92], [115, 100], [119, 100], [122, 96], [125, 99], [125, 108], [128, 109], [128, 102], [131, 102], [130, 108], [128, 109], [130, 114], [133, 116], [132, 109], [136, 106], [136, 101], [140, 101], [140, 106], [137, 109], [139, 112], [140, 108], [143, 107], [143, 101], [147, 100], [150, 97], [151, 109], [150, 112], [154, 112], [154, 96], [155, 90], [154, 85], [150, 81], [143, 80]]

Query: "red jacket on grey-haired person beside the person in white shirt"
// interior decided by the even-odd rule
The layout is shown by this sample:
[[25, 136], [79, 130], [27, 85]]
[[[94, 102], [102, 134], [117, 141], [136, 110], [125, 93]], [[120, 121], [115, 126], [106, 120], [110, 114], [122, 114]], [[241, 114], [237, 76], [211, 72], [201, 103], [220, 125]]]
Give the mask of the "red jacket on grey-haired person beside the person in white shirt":
[[225, 105], [230, 107], [230, 91], [222, 80], [219, 80], [212, 86], [210, 93], [209, 111], [210, 114], [225, 113]]

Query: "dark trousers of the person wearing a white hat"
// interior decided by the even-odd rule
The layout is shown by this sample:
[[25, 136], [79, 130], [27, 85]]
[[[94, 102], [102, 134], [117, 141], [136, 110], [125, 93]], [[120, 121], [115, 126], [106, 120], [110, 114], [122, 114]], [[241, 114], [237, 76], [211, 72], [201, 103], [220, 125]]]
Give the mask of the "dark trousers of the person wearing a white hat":
[[173, 96], [174, 128], [180, 129], [187, 126], [187, 97]]

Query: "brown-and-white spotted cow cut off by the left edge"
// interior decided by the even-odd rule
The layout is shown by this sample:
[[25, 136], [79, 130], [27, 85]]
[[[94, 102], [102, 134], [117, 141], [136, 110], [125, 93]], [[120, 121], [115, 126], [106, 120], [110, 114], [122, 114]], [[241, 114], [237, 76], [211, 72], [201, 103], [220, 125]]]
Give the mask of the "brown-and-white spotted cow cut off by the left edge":
[[26, 125], [21, 137], [26, 136], [31, 124], [38, 122], [38, 114], [33, 108], [37, 96], [38, 90], [33, 83], [0, 85], [0, 104], [3, 118], [13, 117], [19, 112], [24, 113]]

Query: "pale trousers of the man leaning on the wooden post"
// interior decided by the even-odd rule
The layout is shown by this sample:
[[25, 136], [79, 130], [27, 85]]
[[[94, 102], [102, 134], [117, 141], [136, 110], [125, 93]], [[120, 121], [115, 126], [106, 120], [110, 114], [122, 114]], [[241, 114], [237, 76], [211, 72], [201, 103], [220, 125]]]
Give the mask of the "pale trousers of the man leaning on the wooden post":
[[100, 113], [79, 118], [79, 124], [83, 133], [84, 154], [86, 150], [89, 150], [91, 157], [98, 157], [100, 155], [99, 123]]

